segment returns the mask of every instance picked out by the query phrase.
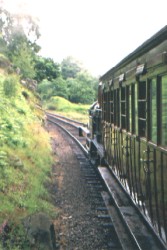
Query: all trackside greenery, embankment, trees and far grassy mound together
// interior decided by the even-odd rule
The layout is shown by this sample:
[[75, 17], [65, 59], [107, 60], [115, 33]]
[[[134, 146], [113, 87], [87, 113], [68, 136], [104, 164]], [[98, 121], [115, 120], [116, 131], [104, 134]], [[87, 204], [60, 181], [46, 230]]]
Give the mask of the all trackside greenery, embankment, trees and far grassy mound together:
[[57, 215], [47, 189], [55, 157], [44, 110], [87, 123], [87, 110], [96, 100], [97, 79], [71, 56], [60, 64], [40, 56], [39, 37], [32, 16], [11, 14], [2, 3], [0, 250], [31, 249], [24, 219], [38, 212]]

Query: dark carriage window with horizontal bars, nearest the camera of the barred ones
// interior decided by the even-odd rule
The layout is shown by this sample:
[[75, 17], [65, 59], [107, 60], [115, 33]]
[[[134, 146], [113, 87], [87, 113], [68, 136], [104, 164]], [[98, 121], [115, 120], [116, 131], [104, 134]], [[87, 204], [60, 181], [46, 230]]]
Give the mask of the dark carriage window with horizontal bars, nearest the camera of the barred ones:
[[139, 135], [146, 137], [146, 82], [138, 85], [138, 127]]

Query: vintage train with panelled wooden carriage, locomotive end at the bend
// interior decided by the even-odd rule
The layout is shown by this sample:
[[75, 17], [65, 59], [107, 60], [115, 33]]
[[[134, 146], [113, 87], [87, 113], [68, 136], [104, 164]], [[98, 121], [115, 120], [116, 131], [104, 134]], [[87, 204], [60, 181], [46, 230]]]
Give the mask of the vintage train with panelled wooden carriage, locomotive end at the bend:
[[106, 160], [166, 242], [167, 26], [100, 78], [98, 105], [90, 153]]

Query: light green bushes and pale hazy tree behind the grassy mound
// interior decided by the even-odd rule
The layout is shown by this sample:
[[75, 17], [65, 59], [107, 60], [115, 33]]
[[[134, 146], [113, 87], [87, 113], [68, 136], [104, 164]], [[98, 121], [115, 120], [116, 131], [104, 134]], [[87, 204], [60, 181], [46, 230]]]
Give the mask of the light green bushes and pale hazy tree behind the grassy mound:
[[[57, 65], [56, 65], [57, 66]], [[96, 99], [97, 79], [92, 77], [73, 57], [65, 58], [61, 65], [61, 72], [55, 79], [47, 79], [38, 86], [42, 99], [48, 100], [52, 96], [61, 96], [74, 103], [92, 103]]]

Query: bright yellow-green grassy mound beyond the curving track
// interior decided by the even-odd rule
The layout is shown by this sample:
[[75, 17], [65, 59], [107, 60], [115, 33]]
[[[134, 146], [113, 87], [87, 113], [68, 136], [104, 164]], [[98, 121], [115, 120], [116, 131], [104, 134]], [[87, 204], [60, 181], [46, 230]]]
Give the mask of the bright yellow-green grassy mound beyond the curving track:
[[52, 97], [45, 108], [53, 113], [67, 116], [68, 118], [88, 123], [88, 109], [90, 105], [75, 104], [62, 97]]

